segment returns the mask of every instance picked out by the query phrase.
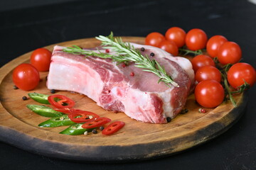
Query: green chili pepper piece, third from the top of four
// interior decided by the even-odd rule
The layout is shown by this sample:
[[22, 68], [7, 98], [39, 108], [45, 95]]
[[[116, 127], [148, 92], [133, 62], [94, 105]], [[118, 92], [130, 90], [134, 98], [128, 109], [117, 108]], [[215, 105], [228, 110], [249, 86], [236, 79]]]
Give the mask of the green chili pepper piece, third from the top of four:
[[66, 126], [66, 125], [74, 125], [75, 123], [68, 118], [68, 115], [61, 115], [56, 118], [51, 118], [46, 120], [43, 123], [40, 123], [38, 126], [41, 128], [53, 128], [59, 126]]

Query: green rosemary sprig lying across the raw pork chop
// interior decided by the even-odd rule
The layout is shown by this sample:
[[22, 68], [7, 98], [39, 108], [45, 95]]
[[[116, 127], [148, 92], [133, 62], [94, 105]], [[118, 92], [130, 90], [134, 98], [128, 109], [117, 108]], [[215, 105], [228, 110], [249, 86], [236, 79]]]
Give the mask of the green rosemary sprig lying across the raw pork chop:
[[82, 50], [81, 47], [73, 46], [66, 47], [63, 49], [64, 52], [68, 52], [74, 55], [87, 55], [101, 58], [111, 58], [117, 64], [124, 62], [134, 62], [136, 67], [141, 68], [145, 72], [151, 72], [159, 77], [158, 82], [164, 82], [167, 86], [172, 84], [178, 87], [178, 84], [166, 73], [164, 67], [162, 67], [156, 60], [150, 60], [147, 55], [143, 56], [139, 50], [135, 50], [134, 46], [130, 45], [129, 42], [123, 42], [122, 38], [114, 38], [113, 33], [105, 37], [100, 35], [96, 37], [97, 40], [102, 42], [103, 48], [113, 50], [116, 55], [110, 55], [108, 53], [93, 52], [88, 50]]

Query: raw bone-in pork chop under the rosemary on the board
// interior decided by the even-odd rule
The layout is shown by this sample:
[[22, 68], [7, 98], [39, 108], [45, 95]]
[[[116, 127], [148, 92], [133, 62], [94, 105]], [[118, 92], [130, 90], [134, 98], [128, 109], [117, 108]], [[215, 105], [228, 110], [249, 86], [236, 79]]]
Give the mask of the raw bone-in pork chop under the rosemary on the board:
[[191, 63], [156, 47], [132, 45], [144, 47], [142, 55], [154, 52], [149, 58], [158, 61], [179, 87], [158, 84], [159, 77], [134, 63], [117, 65], [110, 59], [68, 54], [55, 46], [48, 89], [85, 94], [106, 110], [124, 112], [145, 123], [167, 123], [166, 118], [174, 118], [186, 103], [194, 79]]

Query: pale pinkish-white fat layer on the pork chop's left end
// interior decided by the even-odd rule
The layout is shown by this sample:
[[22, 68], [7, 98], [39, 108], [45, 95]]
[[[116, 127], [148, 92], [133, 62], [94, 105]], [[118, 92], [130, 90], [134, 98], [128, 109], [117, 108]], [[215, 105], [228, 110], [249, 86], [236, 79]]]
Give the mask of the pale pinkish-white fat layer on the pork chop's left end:
[[[68, 61], [63, 64], [63, 57], [58, 55], [52, 57], [48, 74], [48, 89], [75, 91], [80, 94], [86, 94], [92, 100], [100, 103], [98, 96], [100, 96], [102, 89], [99, 89], [99, 87], [103, 86], [100, 75], [82, 62], [75, 62], [67, 58], [65, 60]], [[66, 63], [69, 64], [67, 65]], [[77, 67], [78, 65], [80, 67]], [[65, 78], [55, 79], [55, 77]], [[97, 86], [95, 86], [96, 84]]]

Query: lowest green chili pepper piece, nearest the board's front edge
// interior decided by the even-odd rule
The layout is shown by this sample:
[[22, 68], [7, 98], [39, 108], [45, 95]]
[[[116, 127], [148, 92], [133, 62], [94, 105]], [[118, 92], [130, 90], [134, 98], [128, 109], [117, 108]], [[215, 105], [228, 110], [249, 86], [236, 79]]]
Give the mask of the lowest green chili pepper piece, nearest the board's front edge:
[[85, 131], [92, 132], [92, 130], [94, 129], [94, 128], [85, 129], [85, 128], [82, 128], [82, 125], [83, 123], [76, 123], [75, 125], [70, 125], [70, 127], [66, 128], [60, 133], [65, 135], [82, 135], [84, 134]]

